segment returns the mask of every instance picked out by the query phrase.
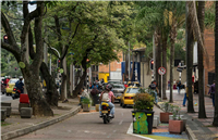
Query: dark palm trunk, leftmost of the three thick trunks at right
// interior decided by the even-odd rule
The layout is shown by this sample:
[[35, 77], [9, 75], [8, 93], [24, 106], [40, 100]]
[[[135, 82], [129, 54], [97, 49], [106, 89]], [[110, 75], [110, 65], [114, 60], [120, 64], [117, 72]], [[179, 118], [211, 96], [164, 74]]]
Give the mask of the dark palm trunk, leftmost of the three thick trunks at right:
[[[187, 7], [186, 0], [186, 7]], [[187, 87], [187, 113], [194, 113], [194, 105], [193, 105], [193, 93], [192, 93], [192, 72], [193, 72], [193, 43], [194, 43], [194, 36], [193, 29], [191, 28], [191, 16], [187, 14], [186, 20], [186, 87]]]

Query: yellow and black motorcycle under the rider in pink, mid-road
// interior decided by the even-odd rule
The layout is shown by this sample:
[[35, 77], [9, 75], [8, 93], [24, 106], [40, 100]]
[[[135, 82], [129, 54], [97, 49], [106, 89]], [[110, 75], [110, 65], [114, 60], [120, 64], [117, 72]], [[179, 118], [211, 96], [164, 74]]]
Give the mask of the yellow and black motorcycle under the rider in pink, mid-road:
[[107, 102], [101, 102], [101, 116], [102, 116], [104, 124], [110, 123], [110, 120], [112, 119], [109, 116], [109, 114], [110, 114], [109, 104]]

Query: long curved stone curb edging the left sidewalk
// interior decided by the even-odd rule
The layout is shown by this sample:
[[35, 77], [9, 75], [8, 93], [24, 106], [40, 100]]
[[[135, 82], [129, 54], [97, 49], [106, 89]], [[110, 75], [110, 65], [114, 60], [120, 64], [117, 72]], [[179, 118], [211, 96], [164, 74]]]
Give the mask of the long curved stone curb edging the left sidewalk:
[[4, 135], [0, 135], [0, 140], [8, 140], [8, 139], [16, 138], [16, 137], [20, 137], [20, 136], [23, 136], [23, 135], [27, 135], [27, 133], [33, 132], [35, 130], [38, 130], [38, 129], [45, 128], [47, 126], [53, 125], [56, 123], [59, 123], [61, 120], [64, 120], [64, 119], [71, 117], [71, 116], [77, 114], [80, 111], [81, 111], [81, 106], [76, 106], [75, 109], [72, 109], [69, 113], [63, 114], [59, 117], [52, 118], [50, 120], [46, 120], [46, 122], [43, 122], [43, 123], [39, 123], [39, 124], [36, 124], [36, 125], [34, 124], [33, 126], [29, 126], [29, 127], [26, 127], [26, 128], [22, 128], [22, 129], [17, 129], [17, 130], [14, 130], [14, 131], [10, 131], [10, 132], [4, 133]]

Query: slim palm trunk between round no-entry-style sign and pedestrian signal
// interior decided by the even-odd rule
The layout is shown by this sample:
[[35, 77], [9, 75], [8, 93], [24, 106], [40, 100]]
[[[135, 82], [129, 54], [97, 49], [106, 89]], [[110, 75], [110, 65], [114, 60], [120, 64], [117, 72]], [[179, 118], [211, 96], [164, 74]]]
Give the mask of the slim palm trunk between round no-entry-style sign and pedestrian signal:
[[174, 42], [177, 39], [177, 23], [173, 18], [173, 23], [171, 26], [171, 33], [170, 33], [170, 102], [173, 102], [173, 72], [174, 72]]

